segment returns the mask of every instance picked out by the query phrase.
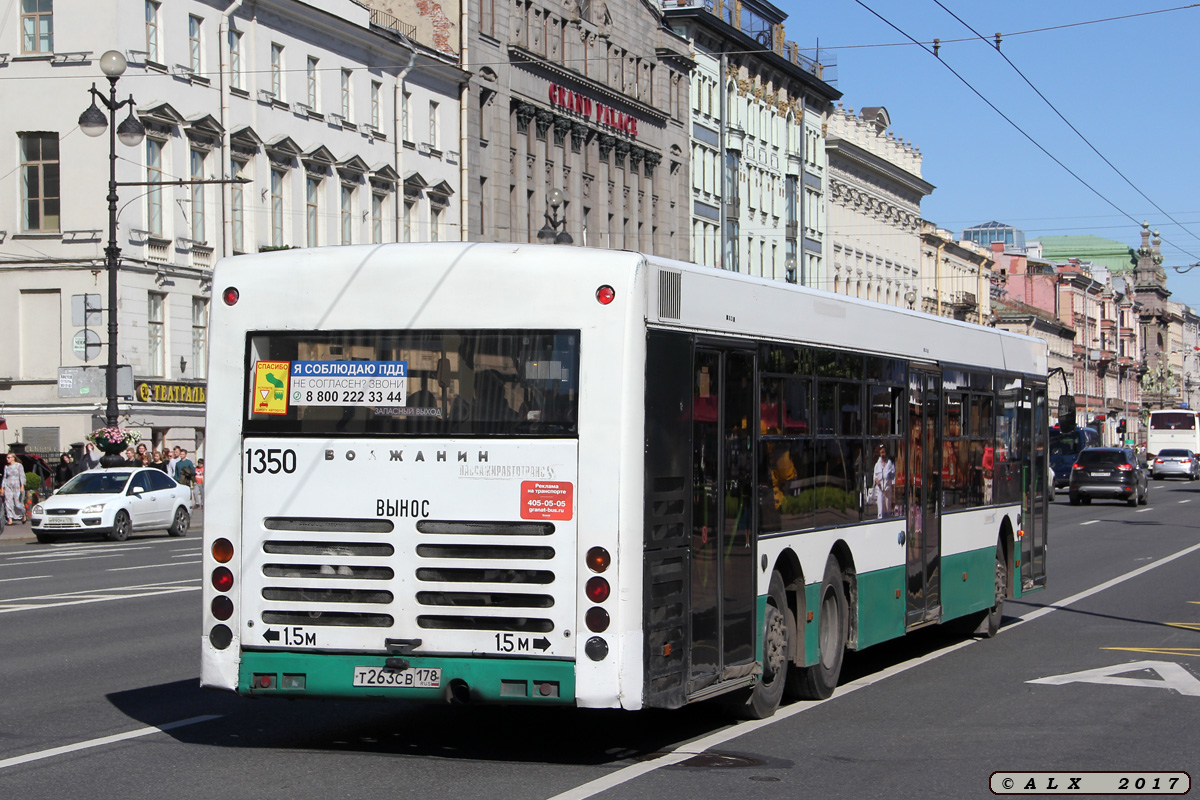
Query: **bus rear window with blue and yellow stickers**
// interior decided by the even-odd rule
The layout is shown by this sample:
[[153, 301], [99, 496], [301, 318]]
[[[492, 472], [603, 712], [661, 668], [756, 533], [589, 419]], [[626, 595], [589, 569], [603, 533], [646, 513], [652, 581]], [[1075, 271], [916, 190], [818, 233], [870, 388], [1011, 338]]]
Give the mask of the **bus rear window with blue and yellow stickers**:
[[575, 435], [578, 331], [247, 337], [246, 433]]

